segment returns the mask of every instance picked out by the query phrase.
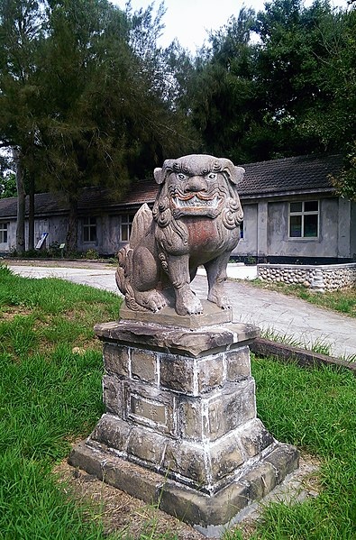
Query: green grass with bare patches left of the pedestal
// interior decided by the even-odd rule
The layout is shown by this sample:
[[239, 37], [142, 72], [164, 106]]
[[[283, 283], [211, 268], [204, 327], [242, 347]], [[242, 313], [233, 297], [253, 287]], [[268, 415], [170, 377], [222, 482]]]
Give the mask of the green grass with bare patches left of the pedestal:
[[[1, 538], [104, 538], [51, 468], [103, 412], [93, 325], [117, 318], [119, 303], [105, 291], [0, 267]], [[75, 346], [86, 352], [73, 353]]]

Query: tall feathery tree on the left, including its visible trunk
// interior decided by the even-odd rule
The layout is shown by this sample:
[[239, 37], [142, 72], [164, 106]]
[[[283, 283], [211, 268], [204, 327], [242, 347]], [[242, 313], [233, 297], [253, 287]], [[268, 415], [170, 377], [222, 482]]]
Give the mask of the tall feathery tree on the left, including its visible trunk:
[[[84, 187], [114, 186], [120, 195], [129, 178], [194, 144], [163, 93], [163, 8], [156, 16], [151, 6], [123, 13], [107, 0], [5, 0], [2, 8], [0, 140], [19, 149], [37, 188], [67, 197], [74, 251]], [[26, 24], [27, 41], [17, 35]]]

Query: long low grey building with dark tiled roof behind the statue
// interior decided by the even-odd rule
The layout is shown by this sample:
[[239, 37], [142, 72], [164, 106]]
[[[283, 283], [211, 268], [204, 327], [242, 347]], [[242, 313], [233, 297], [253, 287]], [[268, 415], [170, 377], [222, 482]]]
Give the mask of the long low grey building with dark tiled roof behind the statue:
[[[327, 264], [356, 260], [356, 204], [338, 197], [329, 175], [339, 155], [300, 156], [242, 165], [239, 194], [244, 220], [236, 260]], [[129, 239], [132, 218], [157, 193], [136, 182], [121, 200], [106, 189], [86, 188], [78, 204], [78, 251], [113, 255]], [[35, 242], [41, 249], [65, 243], [68, 207], [51, 194], [35, 196]], [[16, 197], [0, 199], [0, 252], [14, 249]], [[26, 232], [27, 237], [27, 232]]]

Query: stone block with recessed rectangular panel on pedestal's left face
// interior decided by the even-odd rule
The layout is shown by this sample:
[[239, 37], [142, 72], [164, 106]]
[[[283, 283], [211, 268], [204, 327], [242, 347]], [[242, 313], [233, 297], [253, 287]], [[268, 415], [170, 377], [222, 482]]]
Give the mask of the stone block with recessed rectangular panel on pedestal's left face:
[[123, 382], [125, 417], [134, 424], [148, 426], [163, 434], [176, 434], [175, 396], [168, 391], [142, 384]]

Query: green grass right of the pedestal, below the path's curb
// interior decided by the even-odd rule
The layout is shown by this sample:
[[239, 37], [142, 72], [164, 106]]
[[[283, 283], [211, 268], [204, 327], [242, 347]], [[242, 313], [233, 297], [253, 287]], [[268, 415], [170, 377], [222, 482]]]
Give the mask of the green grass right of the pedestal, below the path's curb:
[[356, 538], [355, 377], [342, 369], [300, 369], [258, 359], [252, 373], [264, 425], [279, 441], [322, 460], [319, 496], [294, 506], [270, 505], [252, 538]]

